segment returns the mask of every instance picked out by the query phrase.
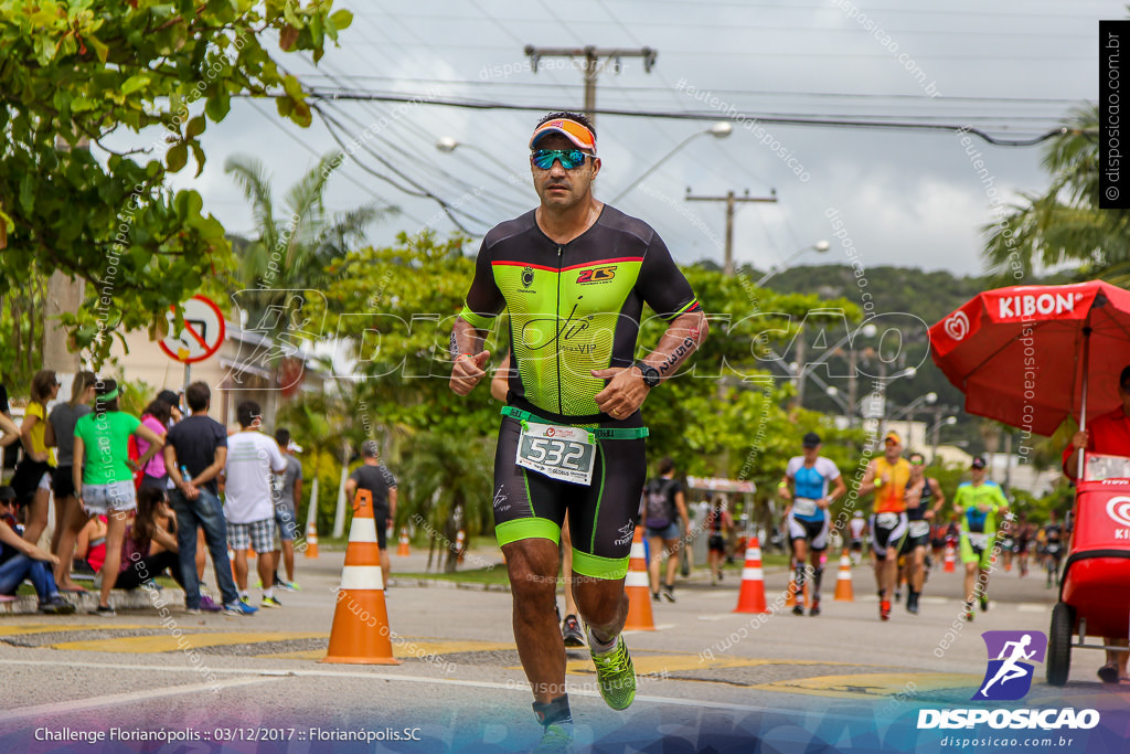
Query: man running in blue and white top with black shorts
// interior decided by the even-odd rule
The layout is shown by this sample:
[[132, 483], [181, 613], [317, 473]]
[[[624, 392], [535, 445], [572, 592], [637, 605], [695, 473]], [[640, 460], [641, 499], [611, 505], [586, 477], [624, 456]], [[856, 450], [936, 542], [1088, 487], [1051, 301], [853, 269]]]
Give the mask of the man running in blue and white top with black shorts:
[[[797, 583], [797, 605], [793, 615], [803, 615], [801, 605], [805, 593], [805, 558], [812, 561], [812, 606], [809, 615], [820, 614], [820, 582], [824, 566], [820, 564], [828, 547], [828, 505], [847, 492], [847, 485], [840, 476], [840, 469], [831, 459], [820, 456], [820, 435], [809, 432], [803, 440], [805, 453], [793, 456], [785, 466], [784, 478], [777, 488], [781, 497], [791, 502], [785, 512], [789, 540], [792, 543], [793, 577]], [[834, 488], [829, 493], [828, 484]]]

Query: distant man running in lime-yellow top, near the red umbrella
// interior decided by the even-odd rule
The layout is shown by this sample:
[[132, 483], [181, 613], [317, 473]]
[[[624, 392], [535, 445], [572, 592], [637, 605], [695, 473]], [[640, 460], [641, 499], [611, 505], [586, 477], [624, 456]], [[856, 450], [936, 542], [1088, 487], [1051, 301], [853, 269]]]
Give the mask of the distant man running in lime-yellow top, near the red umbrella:
[[[1008, 501], [996, 482], [985, 478], [985, 459], [970, 466], [970, 482], [954, 496], [954, 512], [962, 517], [960, 552], [965, 564], [965, 619], [973, 619], [973, 601], [989, 609], [989, 569], [992, 564], [997, 522], [1008, 512]], [[976, 582], [976, 586], [974, 584]]]

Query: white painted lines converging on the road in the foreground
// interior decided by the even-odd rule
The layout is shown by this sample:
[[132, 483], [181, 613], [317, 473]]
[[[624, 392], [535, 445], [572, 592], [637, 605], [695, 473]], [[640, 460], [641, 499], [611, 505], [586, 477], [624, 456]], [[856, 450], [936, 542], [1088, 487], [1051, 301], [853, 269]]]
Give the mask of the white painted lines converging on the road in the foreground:
[[[45, 660], [17, 660], [17, 659], [3, 659], [0, 660], [0, 666], [3, 665], [32, 665], [32, 666], [51, 666], [54, 668], [59, 667], [58, 661], [49, 662]], [[156, 665], [127, 665], [124, 662], [68, 662], [68, 668], [115, 668], [120, 670], [159, 670], [164, 673], [199, 673], [199, 670], [191, 666], [156, 666]], [[186, 686], [172, 686], [168, 688], [158, 688], [154, 691], [137, 691], [129, 694], [115, 694], [113, 696], [101, 696], [94, 700], [82, 700], [78, 702], [63, 702], [61, 704], [42, 704], [34, 708], [24, 708], [23, 710], [14, 710], [6, 714], [0, 714], [0, 721], [19, 719], [33, 716], [44, 716], [54, 714], [60, 711], [69, 711], [72, 709], [86, 709], [93, 707], [110, 707], [114, 704], [121, 704], [123, 702], [138, 702], [145, 701], [147, 699], [156, 699], [159, 696], [174, 696], [177, 694], [192, 693], [195, 691], [209, 691], [214, 686], [231, 687], [231, 686], [243, 686], [255, 683], [267, 683], [269, 681], [279, 681], [286, 677], [310, 677], [310, 678], [358, 678], [365, 681], [391, 681], [391, 682], [402, 682], [402, 683], [420, 683], [420, 684], [433, 684], [437, 686], [458, 686], [464, 688], [490, 688], [490, 690], [505, 690], [505, 691], [519, 691], [522, 693], [529, 693], [529, 687], [525, 682], [511, 682], [511, 683], [496, 683], [492, 681], [460, 681], [458, 678], [434, 678], [428, 676], [409, 676], [409, 675], [397, 675], [392, 673], [366, 673], [364, 670], [336, 670], [336, 669], [282, 669], [282, 668], [216, 668], [212, 670], [215, 674], [229, 674], [229, 675], [243, 675], [255, 674], [253, 678], [233, 678], [232, 681], [220, 682], [219, 684], [191, 684]], [[567, 683], [567, 682], [566, 682]], [[570, 687], [568, 693], [576, 696], [593, 696], [599, 697], [600, 693], [589, 688], [581, 687]], [[790, 714], [794, 717], [807, 717], [808, 711], [806, 710], [791, 710], [788, 708], [776, 708], [770, 705], [757, 705], [757, 704], [732, 704], [728, 702], [714, 702], [709, 700], [698, 699], [676, 699], [671, 696], [649, 696], [643, 694], [637, 694], [635, 697], [636, 702], [647, 702], [651, 704], [672, 704], [677, 707], [695, 707], [695, 708], [710, 708], [716, 710], [730, 710], [737, 712], [773, 712], [776, 714]], [[97, 702], [97, 703], [94, 703]], [[832, 714], [832, 717], [841, 717]], [[843, 716], [843, 719], [850, 719]]]

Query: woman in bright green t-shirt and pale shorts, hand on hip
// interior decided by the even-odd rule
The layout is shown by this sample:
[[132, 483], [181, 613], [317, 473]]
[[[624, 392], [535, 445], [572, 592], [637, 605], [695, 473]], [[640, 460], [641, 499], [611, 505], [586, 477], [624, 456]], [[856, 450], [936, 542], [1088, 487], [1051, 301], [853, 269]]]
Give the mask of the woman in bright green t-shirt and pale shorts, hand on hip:
[[[129, 467], [129, 439], [137, 435], [150, 443], [138, 466], [145, 466], [165, 444], [164, 439], [130, 414], [118, 409], [118, 383], [95, 383], [94, 413], [75, 424], [75, 460], [71, 478], [86, 512], [106, 515], [106, 562], [102, 569], [102, 592], [93, 615], [113, 616], [110, 591], [118, 580], [122, 539], [130, 513], [137, 509], [133, 474]], [[87, 453], [89, 449], [89, 454]], [[85, 463], [84, 463], [85, 461]]]

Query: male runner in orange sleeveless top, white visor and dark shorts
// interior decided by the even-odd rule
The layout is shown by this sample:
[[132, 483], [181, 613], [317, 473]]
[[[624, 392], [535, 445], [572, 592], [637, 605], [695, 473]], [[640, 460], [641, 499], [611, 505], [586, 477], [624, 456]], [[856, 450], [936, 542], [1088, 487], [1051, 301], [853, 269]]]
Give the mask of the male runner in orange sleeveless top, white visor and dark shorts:
[[890, 592], [898, 578], [898, 551], [906, 536], [906, 483], [911, 465], [902, 457], [897, 432], [883, 437], [883, 456], [871, 459], [859, 485], [859, 494], [875, 493], [871, 514], [871, 551], [875, 553], [875, 583], [879, 588], [879, 619], [890, 619]]

